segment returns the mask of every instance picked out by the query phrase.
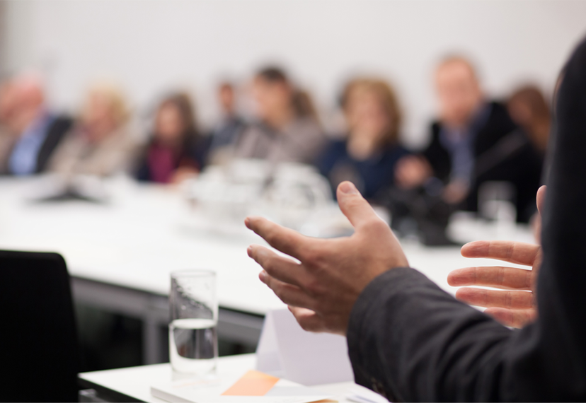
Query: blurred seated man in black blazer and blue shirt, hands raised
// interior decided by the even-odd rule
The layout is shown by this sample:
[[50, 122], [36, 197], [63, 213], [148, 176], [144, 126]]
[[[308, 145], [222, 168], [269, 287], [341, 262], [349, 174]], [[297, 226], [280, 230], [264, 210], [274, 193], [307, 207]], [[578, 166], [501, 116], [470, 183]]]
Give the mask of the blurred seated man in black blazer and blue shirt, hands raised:
[[419, 156], [398, 162], [397, 184], [440, 194], [447, 210], [477, 211], [483, 182], [511, 182], [517, 221], [529, 221], [541, 177], [539, 153], [507, 109], [486, 100], [468, 60], [444, 59], [437, 67], [435, 86], [440, 119], [432, 124], [431, 143]]

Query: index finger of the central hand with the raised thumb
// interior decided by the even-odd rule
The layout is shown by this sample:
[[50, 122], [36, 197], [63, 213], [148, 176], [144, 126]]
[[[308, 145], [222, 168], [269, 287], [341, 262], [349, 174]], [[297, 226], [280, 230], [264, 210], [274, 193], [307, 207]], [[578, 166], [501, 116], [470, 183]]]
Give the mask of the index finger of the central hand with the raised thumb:
[[307, 243], [307, 238], [289, 228], [268, 221], [262, 217], [246, 217], [244, 224], [264, 238], [269, 245], [289, 256], [299, 257]]

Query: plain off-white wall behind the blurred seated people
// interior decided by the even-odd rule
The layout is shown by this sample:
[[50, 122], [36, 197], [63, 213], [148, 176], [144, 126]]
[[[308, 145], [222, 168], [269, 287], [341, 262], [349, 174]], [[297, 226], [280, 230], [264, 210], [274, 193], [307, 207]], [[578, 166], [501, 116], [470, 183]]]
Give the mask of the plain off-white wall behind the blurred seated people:
[[586, 34], [583, 0], [4, 0], [4, 9], [4, 71], [40, 69], [55, 107], [73, 111], [88, 83], [108, 77], [142, 115], [185, 86], [209, 124], [220, 78], [277, 62], [323, 111], [351, 74], [389, 78], [411, 145], [425, 142], [444, 54], [469, 54], [490, 95], [527, 81], [551, 92]]

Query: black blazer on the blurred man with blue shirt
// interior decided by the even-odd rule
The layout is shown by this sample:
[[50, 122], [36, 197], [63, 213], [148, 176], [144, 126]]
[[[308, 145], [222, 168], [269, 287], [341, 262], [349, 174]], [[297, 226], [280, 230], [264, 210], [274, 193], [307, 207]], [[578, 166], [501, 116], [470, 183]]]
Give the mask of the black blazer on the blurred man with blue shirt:
[[[543, 160], [521, 132], [506, 108], [500, 103], [490, 103], [486, 123], [478, 129], [473, 142], [475, 166], [471, 192], [463, 206], [478, 211], [478, 187], [487, 181], [512, 182], [517, 190], [517, 219], [529, 221], [536, 210], [535, 193], [539, 189]], [[435, 177], [447, 183], [452, 171], [452, 158], [440, 141], [442, 125], [432, 124], [432, 140], [423, 151], [432, 166]]]

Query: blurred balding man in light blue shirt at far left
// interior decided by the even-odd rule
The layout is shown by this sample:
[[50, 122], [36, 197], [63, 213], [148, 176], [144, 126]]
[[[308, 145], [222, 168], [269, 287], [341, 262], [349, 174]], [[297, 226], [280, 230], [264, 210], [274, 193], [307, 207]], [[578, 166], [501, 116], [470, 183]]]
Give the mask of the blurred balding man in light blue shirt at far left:
[[16, 140], [8, 155], [8, 173], [31, 175], [47, 170], [53, 151], [69, 129], [69, 117], [54, 115], [45, 105], [38, 76], [23, 74], [12, 81], [13, 105], [9, 126]]

